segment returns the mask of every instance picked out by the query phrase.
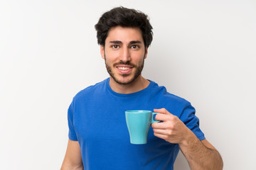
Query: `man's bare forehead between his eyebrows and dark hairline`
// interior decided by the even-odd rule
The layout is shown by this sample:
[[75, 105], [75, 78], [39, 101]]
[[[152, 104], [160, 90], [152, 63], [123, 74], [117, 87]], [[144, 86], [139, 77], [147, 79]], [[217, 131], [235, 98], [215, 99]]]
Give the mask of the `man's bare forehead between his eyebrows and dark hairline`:
[[121, 26], [117, 26], [109, 30], [106, 43], [114, 40], [119, 40], [122, 42], [137, 40], [144, 42], [142, 38], [142, 30], [139, 28], [126, 28]]

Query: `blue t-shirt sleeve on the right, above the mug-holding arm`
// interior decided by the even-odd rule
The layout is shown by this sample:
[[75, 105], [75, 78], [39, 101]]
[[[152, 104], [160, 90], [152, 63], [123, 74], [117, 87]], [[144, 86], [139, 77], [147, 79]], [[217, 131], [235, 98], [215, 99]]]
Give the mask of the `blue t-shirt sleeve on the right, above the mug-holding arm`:
[[191, 103], [183, 109], [180, 119], [185, 125], [198, 137], [199, 140], [205, 140], [203, 132], [199, 128], [199, 119], [195, 115], [196, 109], [191, 106]]

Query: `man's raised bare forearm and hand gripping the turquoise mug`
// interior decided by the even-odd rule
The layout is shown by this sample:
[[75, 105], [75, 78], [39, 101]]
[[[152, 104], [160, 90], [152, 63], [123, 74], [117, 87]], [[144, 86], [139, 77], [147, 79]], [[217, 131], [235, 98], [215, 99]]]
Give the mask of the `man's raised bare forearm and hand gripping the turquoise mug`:
[[223, 160], [213, 145], [207, 140], [198, 140], [198, 137], [177, 116], [172, 115], [165, 108], [154, 111], [162, 113], [157, 114], [155, 119], [163, 121], [152, 124], [154, 135], [167, 142], [177, 143], [191, 169], [223, 169]]

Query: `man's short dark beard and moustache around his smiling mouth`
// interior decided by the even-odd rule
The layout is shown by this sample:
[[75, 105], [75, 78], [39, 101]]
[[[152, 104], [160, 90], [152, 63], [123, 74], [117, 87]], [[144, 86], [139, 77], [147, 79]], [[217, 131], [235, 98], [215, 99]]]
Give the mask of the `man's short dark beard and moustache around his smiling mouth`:
[[[127, 85], [127, 84], [132, 84], [132, 82], [134, 82], [134, 80], [136, 80], [139, 77], [139, 75], [142, 74], [142, 69], [144, 67], [144, 59], [142, 61], [142, 64], [139, 64], [138, 66], [132, 64], [131, 62], [122, 62], [122, 61], [120, 61], [118, 63], [114, 63], [113, 67], [116, 67], [118, 64], [126, 64], [126, 65], [132, 66], [134, 69], [136, 69], [135, 73], [134, 73], [134, 75], [132, 75], [131, 79], [127, 79], [127, 81], [119, 80], [117, 78], [117, 76], [112, 72], [112, 67], [109, 64], [107, 64], [106, 57], [105, 57], [105, 65], [106, 65], [106, 68], [107, 68], [107, 72], [110, 74], [110, 77], [112, 77], [112, 79], [114, 79], [114, 81], [117, 82], [117, 84]], [[122, 74], [120, 76], [121, 77], [129, 77], [129, 76], [131, 76], [131, 74]]]

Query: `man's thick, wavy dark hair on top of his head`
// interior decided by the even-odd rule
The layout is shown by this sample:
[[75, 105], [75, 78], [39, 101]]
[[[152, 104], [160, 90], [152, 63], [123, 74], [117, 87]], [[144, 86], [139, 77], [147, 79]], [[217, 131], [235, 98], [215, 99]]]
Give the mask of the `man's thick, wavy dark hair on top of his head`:
[[110, 28], [122, 26], [140, 28], [145, 47], [149, 47], [153, 39], [152, 26], [145, 13], [132, 8], [122, 6], [112, 8], [112, 10], [103, 13], [98, 23], [95, 25], [97, 30], [97, 43], [105, 46], [105, 40]]

